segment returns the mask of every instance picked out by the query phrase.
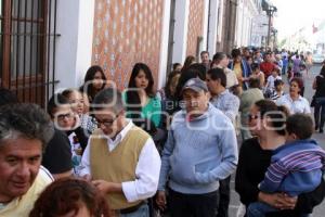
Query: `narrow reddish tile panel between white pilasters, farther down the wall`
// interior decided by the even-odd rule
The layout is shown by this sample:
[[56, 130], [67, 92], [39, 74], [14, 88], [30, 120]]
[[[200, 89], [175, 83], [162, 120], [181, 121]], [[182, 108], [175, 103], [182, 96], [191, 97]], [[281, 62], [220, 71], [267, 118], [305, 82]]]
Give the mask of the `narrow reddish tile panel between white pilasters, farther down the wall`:
[[186, 55], [196, 55], [197, 37], [203, 36], [204, 0], [190, 0]]

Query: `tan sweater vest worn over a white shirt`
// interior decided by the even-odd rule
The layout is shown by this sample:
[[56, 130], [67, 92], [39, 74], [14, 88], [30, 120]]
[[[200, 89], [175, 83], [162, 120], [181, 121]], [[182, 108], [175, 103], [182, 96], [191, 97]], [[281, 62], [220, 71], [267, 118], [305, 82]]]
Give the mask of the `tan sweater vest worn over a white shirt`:
[[[101, 132], [95, 131], [90, 142], [90, 167], [93, 180], [102, 179], [116, 183], [135, 180], [139, 155], [150, 135], [133, 126], [113, 151], [108, 150], [107, 139], [100, 135]], [[141, 203], [141, 201], [129, 203], [123, 193], [108, 193], [106, 200], [112, 209], [128, 208]]]

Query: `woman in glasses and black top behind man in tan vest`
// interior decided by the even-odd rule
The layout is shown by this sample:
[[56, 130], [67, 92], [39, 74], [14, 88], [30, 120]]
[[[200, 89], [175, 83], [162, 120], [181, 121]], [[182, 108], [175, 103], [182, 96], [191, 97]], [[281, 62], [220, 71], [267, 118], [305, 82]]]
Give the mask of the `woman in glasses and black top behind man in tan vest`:
[[81, 154], [88, 142], [79, 116], [73, 112], [68, 99], [61, 93], [50, 99], [48, 113], [54, 124], [55, 133], [46, 148], [42, 165], [55, 179], [69, 177], [73, 173], [77, 175]]

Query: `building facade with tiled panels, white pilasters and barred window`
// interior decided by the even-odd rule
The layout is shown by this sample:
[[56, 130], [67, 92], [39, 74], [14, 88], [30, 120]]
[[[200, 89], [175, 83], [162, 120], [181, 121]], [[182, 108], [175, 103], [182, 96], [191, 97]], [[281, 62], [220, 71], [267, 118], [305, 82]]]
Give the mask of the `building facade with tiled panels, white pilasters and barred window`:
[[[1, 86], [23, 92], [34, 88], [31, 95], [21, 95], [22, 101], [43, 104], [55, 91], [79, 87], [92, 64], [123, 89], [132, 66], [144, 62], [160, 88], [172, 63], [183, 63], [187, 55], [199, 61], [204, 50], [212, 56], [235, 47], [262, 46], [260, 4], [261, 0], [0, 0], [0, 30], [6, 33], [0, 43]], [[30, 22], [24, 27], [26, 21]], [[10, 49], [15, 56], [8, 54]]]

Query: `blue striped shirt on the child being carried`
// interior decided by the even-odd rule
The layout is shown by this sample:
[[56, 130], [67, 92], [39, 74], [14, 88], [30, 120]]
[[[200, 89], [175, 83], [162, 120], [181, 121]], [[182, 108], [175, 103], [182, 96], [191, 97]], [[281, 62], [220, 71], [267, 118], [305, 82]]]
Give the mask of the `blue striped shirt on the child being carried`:
[[259, 188], [263, 192], [286, 192], [291, 196], [314, 190], [320, 183], [325, 152], [314, 140], [297, 140], [274, 151]]

